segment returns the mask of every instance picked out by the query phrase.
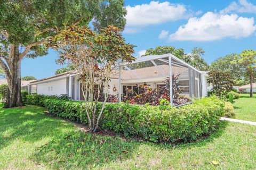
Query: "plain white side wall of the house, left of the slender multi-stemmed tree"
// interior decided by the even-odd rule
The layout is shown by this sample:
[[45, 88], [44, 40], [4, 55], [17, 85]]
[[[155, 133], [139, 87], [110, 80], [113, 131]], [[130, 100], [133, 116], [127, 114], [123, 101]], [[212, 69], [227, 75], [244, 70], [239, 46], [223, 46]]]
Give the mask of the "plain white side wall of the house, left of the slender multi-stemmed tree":
[[66, 78], [37, 84], [37, 94], [62, 95], [66, 94]]

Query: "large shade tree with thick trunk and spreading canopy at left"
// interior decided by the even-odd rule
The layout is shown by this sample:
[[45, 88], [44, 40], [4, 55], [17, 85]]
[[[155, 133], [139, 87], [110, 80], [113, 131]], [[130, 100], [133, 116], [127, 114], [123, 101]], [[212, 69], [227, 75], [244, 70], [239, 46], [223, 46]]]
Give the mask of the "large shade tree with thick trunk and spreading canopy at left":
[[0, 66], [8, 82], [5, 107], [23, 106], [21, 61], [24, 57], [45, 55], [47, 50], [42, 44], [46, 37], [55, 35], [66, 25], [87, 25], [92, 19], [95, 29], [106, 24], [118, 24], [122, 29], [125, 22], [119, 21], [124, 20], [125, 14], [122, 0], [1, 0]]

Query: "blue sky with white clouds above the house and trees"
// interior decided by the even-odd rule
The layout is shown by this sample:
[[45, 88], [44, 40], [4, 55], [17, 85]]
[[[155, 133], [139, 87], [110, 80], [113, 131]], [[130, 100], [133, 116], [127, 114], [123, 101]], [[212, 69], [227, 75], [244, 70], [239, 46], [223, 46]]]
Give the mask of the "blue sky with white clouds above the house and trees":
[[[256, 50], [256, 1], [125, 0], [125, 6], [128, 14], [123, 36], [137, 46], [134, 56], [156, 46], [183, 48], [186, 53], [202, 47], [210, 64], [227, 54]], [[54, 50], [36, 59], [25, 58], [21, 76], [41, 79], [54, 75], [62, 67], [55, 63], [57, 58]]]

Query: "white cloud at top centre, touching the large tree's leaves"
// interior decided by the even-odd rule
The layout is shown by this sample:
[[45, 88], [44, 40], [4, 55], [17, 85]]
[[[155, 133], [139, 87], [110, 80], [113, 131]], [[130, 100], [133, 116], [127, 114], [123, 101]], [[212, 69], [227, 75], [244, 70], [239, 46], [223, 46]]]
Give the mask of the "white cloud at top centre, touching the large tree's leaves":
[[149, 4], [129, 5], [126, 9], [126, 33], [134, 33], [147, 25], [188, 19], [191, 16], [185, 5], [170, 2], [151, 1]]

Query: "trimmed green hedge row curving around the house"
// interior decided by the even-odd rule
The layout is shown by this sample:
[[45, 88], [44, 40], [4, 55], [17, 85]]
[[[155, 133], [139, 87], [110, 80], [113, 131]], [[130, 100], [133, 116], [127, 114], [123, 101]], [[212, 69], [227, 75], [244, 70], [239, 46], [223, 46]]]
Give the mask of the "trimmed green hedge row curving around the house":
[[[83, 101], [28, 95], [27, 103], [44, 106], [57, 116], [87, 124]], [[214, 131], [224, 115], [224, 101], [207, 97], [175, 107], [107, 103], [100, 121], [103, 129], [137, 136], [153, 142], [192, 141]], [[98, 104], [98, 108], [101, 103]]]

